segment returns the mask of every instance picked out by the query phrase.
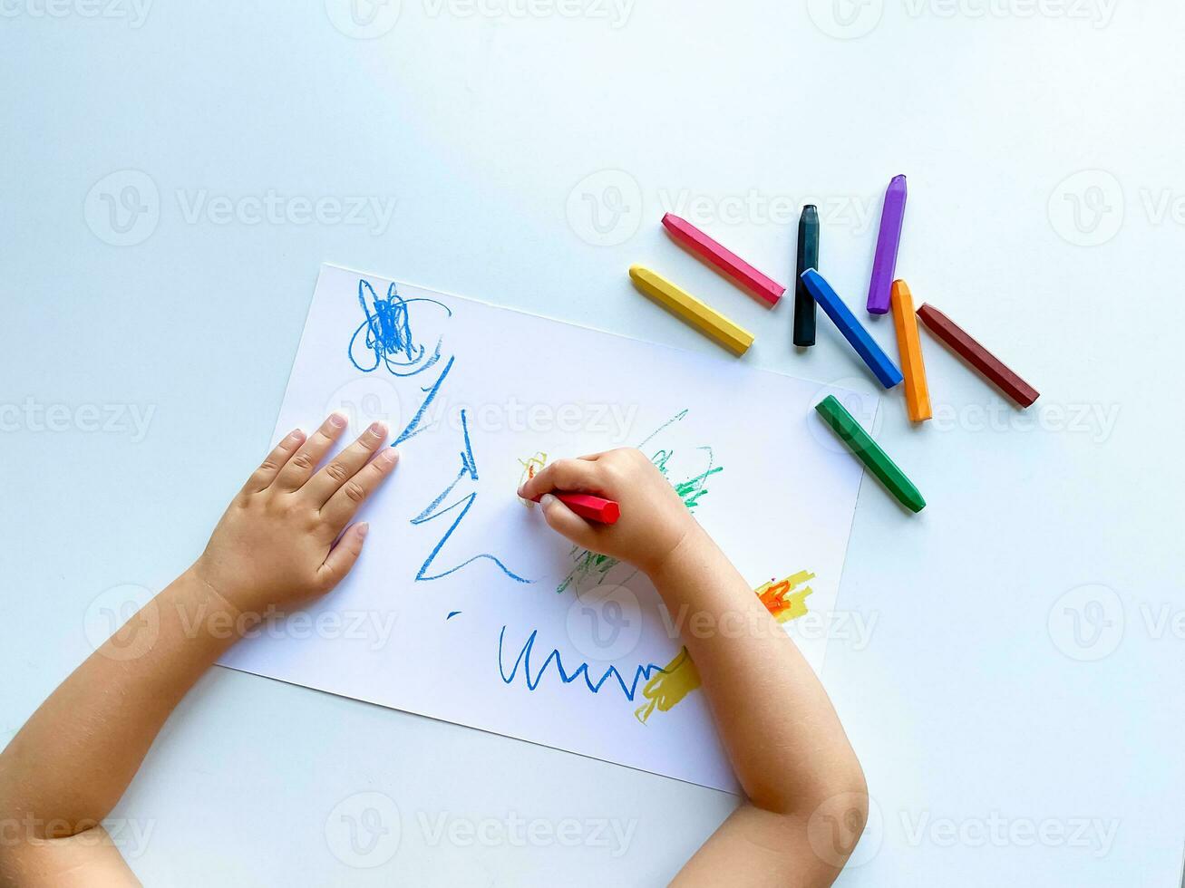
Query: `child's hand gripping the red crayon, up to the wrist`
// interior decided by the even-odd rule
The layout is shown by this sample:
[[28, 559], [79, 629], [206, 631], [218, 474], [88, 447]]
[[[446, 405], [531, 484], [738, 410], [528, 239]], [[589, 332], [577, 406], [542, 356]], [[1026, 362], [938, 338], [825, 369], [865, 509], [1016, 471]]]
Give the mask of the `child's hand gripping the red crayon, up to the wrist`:
[[[585, 521], [559, 500], [546, 496], [552, 491], [616, 500], [621, 519], [615, 525]], [[634, 448], [551, 463], [519, 488], [524, 500], [540, 494], [543, 514], [552, 529], [577, 546], [629, 561], [652, 575], [699, 529], [671, 482]]]

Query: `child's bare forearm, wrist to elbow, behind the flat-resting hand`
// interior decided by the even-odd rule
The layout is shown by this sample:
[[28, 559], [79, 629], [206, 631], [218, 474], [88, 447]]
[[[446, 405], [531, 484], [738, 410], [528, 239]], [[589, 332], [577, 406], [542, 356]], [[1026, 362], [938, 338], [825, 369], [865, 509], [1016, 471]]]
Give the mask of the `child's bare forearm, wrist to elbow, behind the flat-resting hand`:
[[177, 703], [238, 639], [239, 623], [193, 571], [169, 584], [58, 687], [0, 754], [0, 817], [25, 824], [30, 838], [94, 828]]

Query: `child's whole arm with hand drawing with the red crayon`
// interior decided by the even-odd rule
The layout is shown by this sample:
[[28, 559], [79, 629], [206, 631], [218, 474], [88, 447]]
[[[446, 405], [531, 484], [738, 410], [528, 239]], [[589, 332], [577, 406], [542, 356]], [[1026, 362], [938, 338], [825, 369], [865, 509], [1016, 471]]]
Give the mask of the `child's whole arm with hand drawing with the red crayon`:
[[544, 496], [543, 509], [547, 523], [578, 546], [643, 571], [668, 611], [687, 609], [688, 629], [728, 630], [691, 631], [684, 642], [749, 804], [720, 825], [675, 883], [831, 884], [864, 829], [867, 787], [798, 646], [640, 451], [553, 463], [519, 495], [552, 490], [620, 502], [621, 520], [611, 526], [585, 522], [555, 497]]

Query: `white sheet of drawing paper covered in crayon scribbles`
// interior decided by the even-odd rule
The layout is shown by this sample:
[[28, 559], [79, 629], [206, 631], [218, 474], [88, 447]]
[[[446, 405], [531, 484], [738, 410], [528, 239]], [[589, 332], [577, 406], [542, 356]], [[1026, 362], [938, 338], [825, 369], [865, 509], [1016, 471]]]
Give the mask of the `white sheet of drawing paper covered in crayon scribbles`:
[[342, 408], [342, 443], [373, 419], [404, 438], [360, 513], [365, 552], [223, 664], [737, 791], [702, 690], [635, 713], [680, 628], [738, 629], [667, 613], [643, 575], [574, 552], [514, 491], [537, 453], [641, 446], [754, 587], [815, 574], [786, 628], [819, 669], [861, 469], [813, 406], [834, 393], [867, 419], [876, 398], [389, 288], [321, 268], [274, 436]]

